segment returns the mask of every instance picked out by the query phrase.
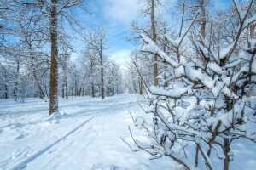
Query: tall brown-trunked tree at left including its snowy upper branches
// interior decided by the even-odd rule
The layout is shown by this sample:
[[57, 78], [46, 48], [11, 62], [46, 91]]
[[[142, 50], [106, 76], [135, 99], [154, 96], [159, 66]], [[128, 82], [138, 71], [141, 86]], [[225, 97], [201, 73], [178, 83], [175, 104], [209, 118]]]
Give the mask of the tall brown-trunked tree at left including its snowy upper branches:
[[[62, 24], [65, 20], [71, 25], [77, 25], [77, 20], [73, 19], [72, 10], [83, 0], [14, 0], [15, 3], [25, 5], [30, 8], [29, 14], [34, 12], [41, 13], [41, 20], [48, 19], [49, 42], [50, 42], [50, 81], [49, 81], [49, 115], [57, 113], [58, 109], [58, 41], [61, 29], [65, 28]], [[58, 20], [60, 19], [60, 20]], [[43, 22], [45, 24], [45, 22]], [[42, 23], [42, 24], [43, 24]], [[46, 22], [47, 23], [47, 22]], [[73, 27], [73, 26], [72, 26]], [[62, 30], [65, 34], [65, 31]]]

